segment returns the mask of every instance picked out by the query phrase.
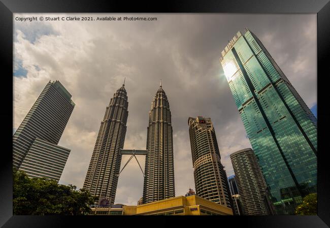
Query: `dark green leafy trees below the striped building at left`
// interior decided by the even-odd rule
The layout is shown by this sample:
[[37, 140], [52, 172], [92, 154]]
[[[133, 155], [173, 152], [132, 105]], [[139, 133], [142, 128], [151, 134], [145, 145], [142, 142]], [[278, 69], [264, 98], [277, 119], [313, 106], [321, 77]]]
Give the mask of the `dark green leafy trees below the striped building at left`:
[[77, 190], [74, 185], [13, 172], [14, 215], [85, 215], [96, 200], [87, 190]]

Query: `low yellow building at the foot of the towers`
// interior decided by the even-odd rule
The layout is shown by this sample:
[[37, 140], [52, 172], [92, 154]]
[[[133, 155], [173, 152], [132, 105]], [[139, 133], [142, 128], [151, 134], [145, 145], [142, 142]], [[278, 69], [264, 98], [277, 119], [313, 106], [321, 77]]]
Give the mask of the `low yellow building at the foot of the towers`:
[[[111, 213], [113, 209], [100, 208], [96, 210], [96, 213], [95, 209], [92, 210], [93, 214], [119, 214], [118, 209], [116, 209], [115, 213]], [[123, 206], [121, 210], [122, 215], [233, 215], [231, 208], [195, 195], [174, 197], [139, 206]], [[109, 213], [105, 213], [105, 211]]]

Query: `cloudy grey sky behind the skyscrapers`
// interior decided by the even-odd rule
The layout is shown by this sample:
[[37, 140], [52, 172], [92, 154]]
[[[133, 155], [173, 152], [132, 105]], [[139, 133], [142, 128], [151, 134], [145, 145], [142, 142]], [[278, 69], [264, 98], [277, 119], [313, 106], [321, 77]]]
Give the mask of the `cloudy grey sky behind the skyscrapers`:
[[[188, 117], [211, 117], [227, 176], [229, 154], [251, 147], [219, 57], [248, 27], [316, 114], [316, 14], [70, 14], [143, 16], [157, 21], [16, 21], [13, 132], [49, 80], [76, 103], [59, 142], [71, 149], [59, 183], [81, 188], [98, 128], [124, 77], [128, 95], [125, 149], [145, 149], [150, 103], [162, 79], [172, 112], [176, 196], [194, 188]], [[123, 156], [122, 167], [129, 155]], [[144, 156], [139, 158], [144, 167]], [[136, 205], [143, 176], [135, 159], [120, 174], [115, 203]]]

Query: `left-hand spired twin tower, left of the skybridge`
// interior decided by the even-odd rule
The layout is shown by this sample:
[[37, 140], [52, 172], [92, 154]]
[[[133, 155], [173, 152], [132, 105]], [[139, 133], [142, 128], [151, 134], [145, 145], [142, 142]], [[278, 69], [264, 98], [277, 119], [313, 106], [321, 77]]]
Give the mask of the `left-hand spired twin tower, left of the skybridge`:
[[92, 196], [114, 204], [121, 154], [126, 135], [128, 102], [125, 84], [114, 93], [106, 108], [83, 188]]

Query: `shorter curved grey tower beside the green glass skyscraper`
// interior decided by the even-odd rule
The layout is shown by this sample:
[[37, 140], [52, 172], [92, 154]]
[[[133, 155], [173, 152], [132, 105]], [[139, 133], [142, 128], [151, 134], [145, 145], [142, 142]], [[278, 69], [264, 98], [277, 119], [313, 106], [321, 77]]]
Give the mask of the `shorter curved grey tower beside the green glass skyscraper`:
[[250, 148], [230, 154], [244, 215], [267, 215], [266, 183]]

